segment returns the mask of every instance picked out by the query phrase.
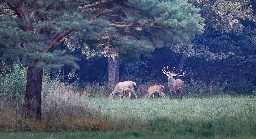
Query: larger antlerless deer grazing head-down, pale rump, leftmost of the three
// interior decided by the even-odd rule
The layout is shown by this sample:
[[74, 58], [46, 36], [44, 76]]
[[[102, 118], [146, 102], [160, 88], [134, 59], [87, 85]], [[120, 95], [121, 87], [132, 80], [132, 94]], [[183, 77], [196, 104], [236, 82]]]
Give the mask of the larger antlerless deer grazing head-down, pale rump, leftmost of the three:
[[[108, 94], [109, 98], [113, 99], [114, 95], [116, 93], [120, 93], [120, 99], [122, 98], [123, 95], [123, 91], [128, 91], [129, 93], [129, 99], [132, 96], [132, 93], [135, 95], [135, 98], [137, 99], [137, 94], [134, 91], [134, 87], [136, 86], [135, 82], [132, 81], [124, 81], [124, 82], [119, 82], [115, 85], [114, 90], [112, 91], [111, 94]], [[131, 93], [132, 92], [132, 93]]]

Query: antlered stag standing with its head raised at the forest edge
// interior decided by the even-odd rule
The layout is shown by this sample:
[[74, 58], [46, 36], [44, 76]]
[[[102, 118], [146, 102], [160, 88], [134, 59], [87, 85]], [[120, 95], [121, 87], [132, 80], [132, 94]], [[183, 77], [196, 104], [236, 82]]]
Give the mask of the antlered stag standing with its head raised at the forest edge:
[[[173, 70], [174, 70], [174, 68], [173, 68]], [[176, 99], [177, 99], [177, 91], [180, 92], [180, 97], [182, 99], [182, 91], [183, 91], [184, 82], [180, 79], [175, 80], [175, 79], [173, 79], [173, 77], [175, 77], [175, 76], [185, 77], [184, 74], [186, 73], [186, 71], [183, 72], [182, 75], [178, 75], [178, 74], [181, 73], [182, 70], [178, 74], [175, 74], [175, 72], [177, 70], [175, 70], [174, 72], [172, 71], [172, 73], [171, 73], [170, 70], [168, 69], [168, 66], [167, 66], [167, 70], [165, 70], [165, 67], [164, 67], [162, 69], [162, 71], [163, 71], [164, 74], [166, 74], [168, 76], [168, 81], [167, 82], [168, 82], [168, 86], [169, 86], [169, 89], [170, 89], [171, 99], [173, 98], [173, 91], [175, 92]]]

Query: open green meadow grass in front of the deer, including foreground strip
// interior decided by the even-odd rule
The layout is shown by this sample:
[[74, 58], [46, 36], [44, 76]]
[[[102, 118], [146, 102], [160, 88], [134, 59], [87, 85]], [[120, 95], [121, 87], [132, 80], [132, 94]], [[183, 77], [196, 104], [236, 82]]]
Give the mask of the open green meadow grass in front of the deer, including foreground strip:
[[[1, 138], [256, 138], [255, 97], [170, 99], [79, 98], [115, 129], [14, 132]], [[99, 109], [100, 107], [100, 109]]]

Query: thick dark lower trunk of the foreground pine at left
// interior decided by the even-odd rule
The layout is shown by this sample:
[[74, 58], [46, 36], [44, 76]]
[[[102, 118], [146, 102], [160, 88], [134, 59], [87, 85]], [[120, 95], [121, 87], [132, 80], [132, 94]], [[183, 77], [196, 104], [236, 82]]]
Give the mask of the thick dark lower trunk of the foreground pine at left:
[[23, 114], [27, 118], [40, 120], [43, 69], [36, 67], [37, 61], [32, 61], [32, 63], [28, 66]]

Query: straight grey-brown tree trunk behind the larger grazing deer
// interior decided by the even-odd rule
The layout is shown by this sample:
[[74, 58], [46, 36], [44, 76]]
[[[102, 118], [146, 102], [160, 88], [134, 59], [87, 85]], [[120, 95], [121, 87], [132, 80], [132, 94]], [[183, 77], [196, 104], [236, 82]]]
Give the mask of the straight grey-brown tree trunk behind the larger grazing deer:
[[108, 59], [108, 87], [113, 87], [119, 82], [119, 59]]

